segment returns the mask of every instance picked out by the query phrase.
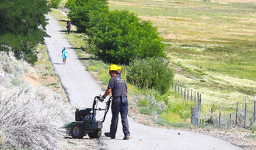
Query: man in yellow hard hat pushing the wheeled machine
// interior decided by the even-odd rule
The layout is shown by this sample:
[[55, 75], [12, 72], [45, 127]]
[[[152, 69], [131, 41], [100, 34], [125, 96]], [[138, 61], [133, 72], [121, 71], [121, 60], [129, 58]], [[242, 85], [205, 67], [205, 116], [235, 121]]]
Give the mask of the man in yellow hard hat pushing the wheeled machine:
[[112, 94], [112, 120], [110, 125], [110, 132], [105, 133], [105, 136], [110, 137], [111, 139], [115, 139], [115, 134], [117, 132], [117, 122], [118, 122], [118, 115], [120, 112], [121, 119], [122, 119], [122, 125], [123, 125], [123, 133], [125, 134], [124, 140], [128, 140], [130, 137], [129, 132], [129, 124], [127, 120], [127, 114], [128, 114], [128, 99], [127, 99], [127, 93], [128, 93], [128, 87], [125, 83], [125, 80], [118, 76], [121, 72], [121, 68], [117, 65], [110, 65], [109, 67], [109, 75], [111, 76], [109, 80], [109, 85], [107, 88], [107, 91], [103, 96], [101, 96], [99, 99], [104, 100], [106, 96], [108, 96], [111, 92]]

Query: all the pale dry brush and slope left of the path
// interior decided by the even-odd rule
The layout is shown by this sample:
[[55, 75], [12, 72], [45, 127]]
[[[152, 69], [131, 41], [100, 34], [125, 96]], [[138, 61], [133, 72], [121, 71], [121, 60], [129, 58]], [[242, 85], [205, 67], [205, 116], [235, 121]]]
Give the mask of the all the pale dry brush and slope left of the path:
[[0, 70], [15, 75], [13, 79], [0, 76], [0, 150], [57, 150], [62, 146], [58, 141], [66, 136], [62, 127], [72, 120], [74, 108], [65, 102], [61, 87], [34, 86], [47, 81], [41, 71], [48, 67], [37, 67], [15, 60], [11, 54], [0, 55]]

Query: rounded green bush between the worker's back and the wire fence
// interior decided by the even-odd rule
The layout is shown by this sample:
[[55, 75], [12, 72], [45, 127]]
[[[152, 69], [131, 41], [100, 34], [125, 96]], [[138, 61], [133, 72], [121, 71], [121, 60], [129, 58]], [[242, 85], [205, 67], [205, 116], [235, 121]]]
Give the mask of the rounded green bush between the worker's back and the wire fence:
[[139, 88], [156, 89], [164, 94], [172, 85], [173, 69], [162, 58], [136, 59], [127, 68], [127, 81]]

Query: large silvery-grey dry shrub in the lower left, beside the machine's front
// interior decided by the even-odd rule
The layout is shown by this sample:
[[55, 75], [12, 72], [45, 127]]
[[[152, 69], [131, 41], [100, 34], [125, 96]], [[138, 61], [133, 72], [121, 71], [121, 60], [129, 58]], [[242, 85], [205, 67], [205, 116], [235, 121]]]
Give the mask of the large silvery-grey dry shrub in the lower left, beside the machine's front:
[[0, 150], [56, 150], [71, 114], [60, 95], [45, 87], [0, 85]]

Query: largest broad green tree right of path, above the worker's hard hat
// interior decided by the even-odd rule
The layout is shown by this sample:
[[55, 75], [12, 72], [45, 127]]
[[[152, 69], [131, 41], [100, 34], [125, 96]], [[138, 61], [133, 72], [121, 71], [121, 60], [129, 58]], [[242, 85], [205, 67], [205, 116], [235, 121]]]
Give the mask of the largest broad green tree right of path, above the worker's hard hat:
[[128, 10], [114, 10], [91, 16], [87, 29], [94, 53], [109, 63], [129, 64], [134, 58], [165, 57], [164, 43], [149, 21]]

